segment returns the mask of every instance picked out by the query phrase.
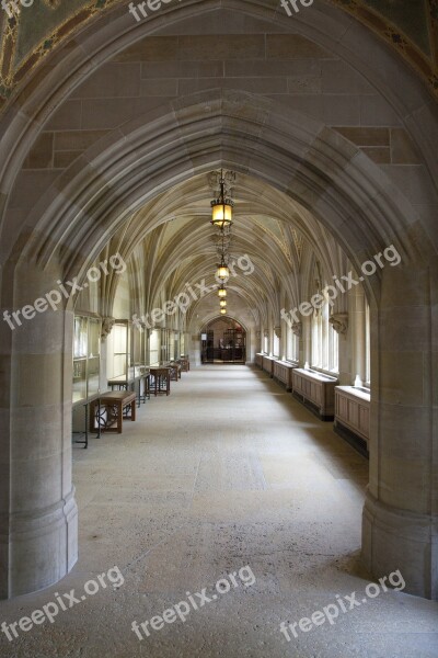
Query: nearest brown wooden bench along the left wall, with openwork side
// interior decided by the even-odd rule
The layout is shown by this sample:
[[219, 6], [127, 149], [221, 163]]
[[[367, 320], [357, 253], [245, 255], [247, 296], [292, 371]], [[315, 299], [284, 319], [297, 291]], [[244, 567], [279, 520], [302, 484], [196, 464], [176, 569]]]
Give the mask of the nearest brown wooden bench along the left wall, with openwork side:
[[[137, 395], [129, 390], [113, 390], [104, 393], [100, 398], [91, 404], [91, 429], [95, 429], [95, 423], [104, 432], [118, 432], [122, 434], [124, 412], [129, 411], [130, 420], [136, 420]], [[127, 418], [125, 416], [125, 418]], [[114, 427], [116, 426], [116, 427]]]

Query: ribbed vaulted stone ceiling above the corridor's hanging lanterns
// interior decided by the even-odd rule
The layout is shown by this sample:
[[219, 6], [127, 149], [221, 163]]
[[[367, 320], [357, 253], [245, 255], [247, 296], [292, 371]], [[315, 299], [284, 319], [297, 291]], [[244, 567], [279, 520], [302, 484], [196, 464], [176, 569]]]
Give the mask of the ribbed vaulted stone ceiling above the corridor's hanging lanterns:
[[[151, 286], [146, 291], [150, 307], [173, 299], [187, 282], [215, 284], [221, 238], [210, 224], [214, 177], [215, 172], [199, 174], [158, 195], [113, 237], [113, 249], [125, 260], [141, 245], [151, 273], [145, 272], [145, 283]], [[227, 252], [237, 273], [228, 283], [234, 307], [239, 307], [238, 295], [256, 313], [263, 313], [266, 302], [277, 308], [279, 290], [298, 300], [299, 274], [313, 258], [327, 272], [344, 271], [339, 247], [299, 203], [243, 173], [235, 175], [232, 196], [234, 222]], [[192, 305], [192, 313], [196, 309]]]

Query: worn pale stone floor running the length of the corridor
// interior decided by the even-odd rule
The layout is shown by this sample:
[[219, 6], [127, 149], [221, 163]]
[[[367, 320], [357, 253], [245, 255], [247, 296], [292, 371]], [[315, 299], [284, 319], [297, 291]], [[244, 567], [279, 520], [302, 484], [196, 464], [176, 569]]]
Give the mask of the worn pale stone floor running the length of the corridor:
[[[1, 657], [437, 658], [438, 603], [395, 591], [365, 598], [368, 463], [264, 373], [192, 370], [169, 398], [142, 405], [122, 436], [93, 439], [73, 456], [79, 561], [56, 587], [2, 602], [0, 622], [73, 588], [84, 600], [12, 642], [0, 634]], [[116, 582], [85, 597], [85, 583], [114, 566], [124, 582], [110, 571]], [[223, 578], [227, 593], [215, 589]], [[188, 595], [200, 605], [204, 588], [216, 599], [194, 610]], [[280, 633], [281, 621], [353, 591], [360, 606], [333, 625], [297, 627], [291, 642]], [[134, 620], [178, 602], [185, 622], [155, 620], [138, 639]]]

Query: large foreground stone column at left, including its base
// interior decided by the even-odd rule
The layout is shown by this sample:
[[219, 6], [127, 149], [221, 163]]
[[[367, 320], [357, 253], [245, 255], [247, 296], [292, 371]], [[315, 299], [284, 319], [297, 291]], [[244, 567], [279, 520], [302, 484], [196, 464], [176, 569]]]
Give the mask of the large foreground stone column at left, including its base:
[[[57, 279], [27, 268], [15, 286], [13, 309], [57, 288]], [[2, 306], [3, 317], [4, 306], [11, 310], [12, 305]], [[0, 322], [1, 598], [57, 582], [78, 557], [71, 481], [73, 314], [60, 309], [20, 317], [21, 326], [13, 322], [13, 329]]]

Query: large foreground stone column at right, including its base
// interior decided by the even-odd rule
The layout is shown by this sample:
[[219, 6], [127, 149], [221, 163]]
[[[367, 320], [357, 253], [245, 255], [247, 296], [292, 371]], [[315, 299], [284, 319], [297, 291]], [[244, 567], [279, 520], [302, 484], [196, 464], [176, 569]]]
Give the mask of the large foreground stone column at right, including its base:
[[371, 307], [370, 483], [362, 556], [438, 598], [438, 266], [387, 266]]

